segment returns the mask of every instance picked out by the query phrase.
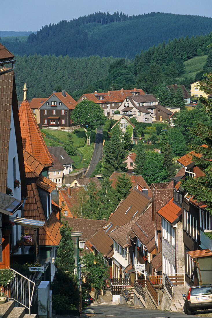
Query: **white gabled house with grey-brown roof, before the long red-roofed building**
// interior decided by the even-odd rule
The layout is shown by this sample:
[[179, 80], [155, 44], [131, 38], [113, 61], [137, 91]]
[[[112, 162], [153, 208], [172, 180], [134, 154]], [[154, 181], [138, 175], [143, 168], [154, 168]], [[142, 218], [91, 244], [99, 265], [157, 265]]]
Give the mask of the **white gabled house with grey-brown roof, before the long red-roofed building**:
[[139, 122], [152, 123], [169, 119], [172, 112], [158, 104], [153, 94], [126, 97], [118, 107], [121, 114], [136, 118]]

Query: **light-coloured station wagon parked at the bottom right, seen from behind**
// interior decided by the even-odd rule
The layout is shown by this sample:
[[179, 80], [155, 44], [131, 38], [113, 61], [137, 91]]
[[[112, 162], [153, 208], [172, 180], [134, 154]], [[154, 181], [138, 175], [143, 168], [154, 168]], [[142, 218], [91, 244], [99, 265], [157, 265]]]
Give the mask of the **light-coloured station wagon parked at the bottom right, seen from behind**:
[[193, 286], [188, 289], [183, 310], [187, 315], [193, 315], [196, 310], [212, 309], [212, 284]]

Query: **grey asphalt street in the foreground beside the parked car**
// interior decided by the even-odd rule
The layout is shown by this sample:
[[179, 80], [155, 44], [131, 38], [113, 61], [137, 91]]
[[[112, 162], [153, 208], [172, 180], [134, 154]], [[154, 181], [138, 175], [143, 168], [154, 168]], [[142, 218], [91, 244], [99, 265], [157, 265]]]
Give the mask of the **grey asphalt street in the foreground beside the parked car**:
[[171, 313], [169, 311], [152, 310], [145, 308], [135, 309], [133, 306], [127, 305], [99, 305], [91, 307], [95, 311], [95, 317], [120, 317], [120, 318], [186, 318], [183, 313]]

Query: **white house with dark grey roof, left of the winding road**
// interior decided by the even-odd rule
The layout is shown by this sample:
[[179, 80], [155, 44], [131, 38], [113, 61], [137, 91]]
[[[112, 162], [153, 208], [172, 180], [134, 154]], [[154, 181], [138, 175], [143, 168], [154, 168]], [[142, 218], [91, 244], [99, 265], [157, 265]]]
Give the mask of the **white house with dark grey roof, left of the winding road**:
[[[58, 159], [60, 164], [63, 166], [64, 168], [63, 175], [68, 175], [70, 172], [73, 171], [72, 164], [74, 163], [74, 160], [67, 154], [67, 152], [62, 146], [59, 146], [59, 147], [49, 146], [47, 148], [49, 152], [52, 155], [54, 155]], [[56, 176], [56, 171], [54, 175]], [[61, 176], [61, 178], [63, 177], [63, 175]]]

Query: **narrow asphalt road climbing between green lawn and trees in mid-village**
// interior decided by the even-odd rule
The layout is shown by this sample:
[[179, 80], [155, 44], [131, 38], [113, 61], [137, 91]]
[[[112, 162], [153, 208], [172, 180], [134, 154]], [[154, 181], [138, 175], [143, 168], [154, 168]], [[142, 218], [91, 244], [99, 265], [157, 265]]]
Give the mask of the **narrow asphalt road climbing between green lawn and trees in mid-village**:
[[94, 149], [93, 157], [92, 157], [91, 162], [90, 162], [90, 167], [86, 173], [86, 178], [88, 178], [92, 174], [97, 163], [101, 160], [101, 156], [102, 156], [102, 132], [103, 132], [103, 128], [97, 129], [95, 149]]

